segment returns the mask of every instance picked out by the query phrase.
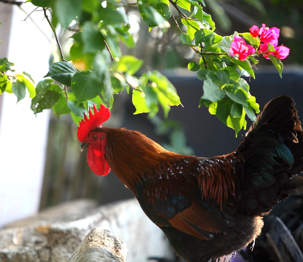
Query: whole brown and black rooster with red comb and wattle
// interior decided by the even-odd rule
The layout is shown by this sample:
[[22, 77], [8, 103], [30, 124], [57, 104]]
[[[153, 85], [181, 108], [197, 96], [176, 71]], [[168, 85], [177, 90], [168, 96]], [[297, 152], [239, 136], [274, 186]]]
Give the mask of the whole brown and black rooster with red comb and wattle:
[[260, 234], [262, 217], [303, 192], [303, 135], [295, 102], [268, 102], [231, 154], [203, 158], [169, 152], [142, 133], [102, 126], [101, 104], [78, 127], [96, 175], [112, 170], [148, 218], [188, 262], [228, 261]]

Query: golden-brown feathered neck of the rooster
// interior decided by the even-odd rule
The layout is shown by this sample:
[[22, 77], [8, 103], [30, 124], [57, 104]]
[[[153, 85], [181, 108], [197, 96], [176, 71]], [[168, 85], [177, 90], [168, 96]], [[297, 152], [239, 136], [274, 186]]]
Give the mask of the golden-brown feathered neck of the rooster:
[[140, 132], [106, 128], [106, 160], [111, 170], [135, 194], [135, 185], [165, 164], [169, 152]]

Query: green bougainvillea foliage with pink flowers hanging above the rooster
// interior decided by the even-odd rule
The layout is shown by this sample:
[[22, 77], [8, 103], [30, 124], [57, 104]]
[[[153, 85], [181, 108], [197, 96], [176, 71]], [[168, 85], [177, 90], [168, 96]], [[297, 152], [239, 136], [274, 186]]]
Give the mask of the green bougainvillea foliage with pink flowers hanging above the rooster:
[[[267, 46], [264, 40], [261, 44], [261, 35], [259, 38], [250, 32], [235, 32], [232, 36], [216, 34], [211, 15], [203, 10], [203, 0], [140, 0], [127, 6], [117, 0], [106, 1], [106, 5], [104, 2], [101, 5], [99, 0], [91, 0], [73, 2], [73, 8], [61, 0], [28, 2], [42, 7], [56, 39], [61, 61], [49, 67], [45, 77], [51, 79], [42, 80], [35, 87], [30, 75], [25, 72], [9, 77], [6, 71], [13, 70], [13, 63], [7, 59], [0, 60], [0, 93], [15, 93], [19, 101], [27, 89], [35, 114], [52, 108], [58, 118], [70, 113], [78, 123], [83, 112], [87, 112], [92, 104], [102, 103], [111, 108], [114, 94], [123, 90], [131, 92], [135, 114], [146, 112], [153, 117], [161, 107], [164, 116], [167, 116], [171, 106], [181, 104], [176, 89], [164, 75], [154, 70], [138, 77], [136, 74], [144, 61], [122, 54], [122, 44], [127, 48], [135, 47], [129, 32], [127, 6], [138, 6], [149, 29], [160, 27], [165, 32], [170, 27], [169, 18], [172, 19], [180, 32], [180, 42], [196, 53], [195, 61], [188, 64], [188, 69], [197, 72], [198, 79], [203, 81], [204, 94], [199, 106], [207, 106], [211, 114], [235, 129], [236, 134], [245, 129], [245, 116], [255, 120], [255, 112], [259, 111], [259, 105], [245, 81], [245, 77], [255, 77], [256, 57], [262, 55], [270, 59], [280, 75], [283, 70], [279, 57], [285, 57], [285, 47], [270, 43]], [[177, 10], [177, 18], [170, 5]], [[47, 9], [52, 10], [52, 21], [46, 14]], [[186, 16], [182, 10], [191, 14]], [[70, 26], [73, 21], [76, 24]], [[57, 23], [73, 32], [73, 44], [68, 56], [70, 61], [64, 58], [55, 29]], [[182, 31], [179, 23], [186, 31]], [[237, 41], [240, 38], [243, 41]], [[246, 45], [245, 41], [250, 45]], [[54, 80], [63, 88], [53, 83]], [[67, 90], [68, 87], [71, 88]]]

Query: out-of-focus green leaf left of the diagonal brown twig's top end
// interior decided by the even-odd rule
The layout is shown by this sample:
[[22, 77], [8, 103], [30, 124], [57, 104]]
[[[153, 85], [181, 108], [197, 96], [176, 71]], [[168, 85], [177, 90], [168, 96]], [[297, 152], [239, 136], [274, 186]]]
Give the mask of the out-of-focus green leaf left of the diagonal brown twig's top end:
[[85, 22], [83, 28], [81, 34], [83, 53], [96, 53], [105, 49], [104, 37], [92, 21]]

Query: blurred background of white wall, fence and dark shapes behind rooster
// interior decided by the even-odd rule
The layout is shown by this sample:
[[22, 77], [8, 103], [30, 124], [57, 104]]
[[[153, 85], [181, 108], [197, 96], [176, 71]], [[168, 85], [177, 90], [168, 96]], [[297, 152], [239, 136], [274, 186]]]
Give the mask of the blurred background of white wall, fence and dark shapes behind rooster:
[[[281, 29], [279, 44], [290, 48], [283, 60], [283, 78], [270, 61], [260, 58], [256, 79], [246, 80], [260, 109], [270, 99], [288, 94], [297, 102], [299, 115], [303, 115], [303, 2], [205, 0], [205, 4], [204, 10], [211, 14], [215, 32], [220, 35], [248, 32], [252, 25], [261, 27], [262, 23]], [[13, 61], [16, 70], [26, 68], [37, 83], [48, 72], [49, 60], [57, 59], [58, 53], [43, 11], [33, 12], [24, 21], [34, 8], [31, 3], [18, 7], [0, 1], [0, 57]], [[136, 6], [126, 8], [126, 13], [136, 48], [124, 48], [123, 53], [143, 59], [144, 71], [161, 70], [177, 88], [184, 108], [172, 107], [166, 120], [161, 113], [148, 119], [146, 114], [133, 115], [131, 96], [122, 92], [114, 97], [112, 117], [106, 125], [139, 130], [165, 148], [183, 154], [210, 157], [235, 150], [245, 131], [236, 138], [234, 130], [210, 115], [207, 108], [198, 108], [203, 83], [187, 64], [199, 58], [188, 46], [181, 45], [172, 21], [166, 33], [159, 28], [149, 33]], [[72, 43], [69, 36], [68, 32], [60, 34], [64, 50], [69, 50]], [[68, 53], [64, 56], [69, 60]], [[104, 204], [133, 197], [113, 173], [105, 177], [92, 173], [86, 152], [80, 152], [77, 127], [70, 117], [63, 115], [59, 121], [47, 110], [35, 116], [30, 99], [16, 102], [14, 95], [0, 95], [0, 227], [64, 201], [90, 198]]]

